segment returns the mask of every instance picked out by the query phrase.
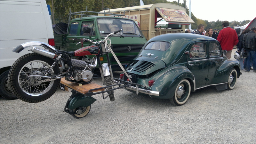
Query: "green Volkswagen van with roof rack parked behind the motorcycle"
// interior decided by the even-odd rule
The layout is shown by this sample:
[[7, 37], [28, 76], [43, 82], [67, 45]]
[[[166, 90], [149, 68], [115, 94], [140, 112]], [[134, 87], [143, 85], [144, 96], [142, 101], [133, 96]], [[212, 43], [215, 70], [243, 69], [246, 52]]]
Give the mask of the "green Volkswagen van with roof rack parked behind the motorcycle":
[[[90, 42], [79, 43], [81, 41], [73, 41], [73, 39], [87, 38], [100, 41], [109, 33], [122, 29], [118, 33], [119, 35], [110, 37], [110, 41], [112, 50], [124, 67], [138, 55], [147, 42], [139, 27], [130, 19], [113, 16], [90, 16], [75, 18], [66, 25], [67, 29], [64, 27], [63, 30], [65, 32], [66, 29], [66, 34], [59, 32], [61, 28], [58, 24], [54, 28], [55, 48], [64, 51], [75, 51], [91, 44]], [[109, 56], [112, 70], [121, 70], [112, 54]], [[100, 60], [101, 63], [107, 61], [105, 56], [102, 56]]]

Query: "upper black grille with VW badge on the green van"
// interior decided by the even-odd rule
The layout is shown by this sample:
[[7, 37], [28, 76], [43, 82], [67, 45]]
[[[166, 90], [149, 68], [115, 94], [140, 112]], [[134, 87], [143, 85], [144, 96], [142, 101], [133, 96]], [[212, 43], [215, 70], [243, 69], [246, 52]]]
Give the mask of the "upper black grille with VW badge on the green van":
[[[131, 50], [128, 51], [128, 46], [131, 47]], [[112, 50], [115, 53], [123, 52], [140, 52], [144, 44], [112, 44]]]

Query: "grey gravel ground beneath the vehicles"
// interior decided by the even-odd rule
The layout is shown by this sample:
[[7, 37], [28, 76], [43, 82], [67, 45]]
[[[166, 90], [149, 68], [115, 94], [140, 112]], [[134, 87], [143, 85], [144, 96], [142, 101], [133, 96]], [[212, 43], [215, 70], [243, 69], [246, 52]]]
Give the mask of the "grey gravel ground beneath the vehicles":
[[[234, 49], [236, 50], [236, 49]], [[119, 72], [115, 72], [118, 76]], [[0, 98], [0, 143], [255, 143], [256, 73], [243, 72], [232, 91], [209, 86], [182, 106], [115, 91], [97, 99], [80, 119], [64, 113], [70, 92], [27, 103]], [[100, 80], [96, 83], [102, 85]]]

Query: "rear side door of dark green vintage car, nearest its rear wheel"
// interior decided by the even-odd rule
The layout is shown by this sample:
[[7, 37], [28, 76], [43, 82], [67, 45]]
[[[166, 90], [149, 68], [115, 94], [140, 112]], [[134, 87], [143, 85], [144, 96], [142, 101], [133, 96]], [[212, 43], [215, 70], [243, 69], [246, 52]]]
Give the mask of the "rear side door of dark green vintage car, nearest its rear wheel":
[[206, 45], [206, 42], [197, 42], [190, 47], [188, 69], [195, 76], [196, 88], [204, 86], [207, 81], [209, 59]]

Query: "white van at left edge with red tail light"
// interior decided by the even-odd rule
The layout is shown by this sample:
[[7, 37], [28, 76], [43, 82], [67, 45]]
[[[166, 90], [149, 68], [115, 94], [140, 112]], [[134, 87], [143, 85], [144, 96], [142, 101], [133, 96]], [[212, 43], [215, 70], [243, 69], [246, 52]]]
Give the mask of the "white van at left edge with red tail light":
[[0, 0], [0, 95], [17, 99], [9, 89], [8, 72], [28, 51], [12, 50], [29, 41], [54, 45], [52, 21], [45, 0]]

